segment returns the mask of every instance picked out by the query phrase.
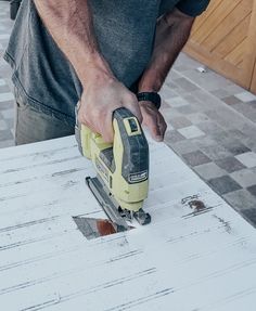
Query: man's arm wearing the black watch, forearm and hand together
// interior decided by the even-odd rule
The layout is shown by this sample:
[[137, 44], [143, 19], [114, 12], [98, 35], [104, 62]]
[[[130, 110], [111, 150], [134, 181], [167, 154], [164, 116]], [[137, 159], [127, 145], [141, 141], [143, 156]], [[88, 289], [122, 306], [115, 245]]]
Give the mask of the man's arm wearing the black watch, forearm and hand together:
[[[194, 17], [183, 14], [178, 9], [165, 14], [156, 26], [155, 44], [151, 62], [139, 82], [139, 91], [158, 92], [178, 54], [189, 39]], [[166, 122], [161, 113], [150, 102], [141, 103], [143, 122], [152, 135], [164, 139]]]

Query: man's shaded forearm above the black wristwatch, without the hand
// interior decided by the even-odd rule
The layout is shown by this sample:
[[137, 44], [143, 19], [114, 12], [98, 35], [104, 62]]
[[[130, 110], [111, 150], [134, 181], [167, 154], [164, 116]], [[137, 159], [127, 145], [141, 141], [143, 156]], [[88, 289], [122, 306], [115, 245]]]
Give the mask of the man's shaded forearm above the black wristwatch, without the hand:
[[169, 69], [189, 39], [193, 21], [193, 17], [178, 10], [158, 21], [152, 59], [139, 82], [139, 91], [159, 91]]

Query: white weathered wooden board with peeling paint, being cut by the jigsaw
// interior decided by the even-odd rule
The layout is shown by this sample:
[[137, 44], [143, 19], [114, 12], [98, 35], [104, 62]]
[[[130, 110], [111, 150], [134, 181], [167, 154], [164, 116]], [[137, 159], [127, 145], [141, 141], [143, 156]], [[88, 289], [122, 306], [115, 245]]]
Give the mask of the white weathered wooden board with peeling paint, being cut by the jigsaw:
[[[256, 232], [164, 144], [150, 141], [152, 223], [87, 241], [101, 218], [74, 138], [0, 151], [1, 310], [255, 310]], [[182, 198], [199, 195], [194, 213]]]

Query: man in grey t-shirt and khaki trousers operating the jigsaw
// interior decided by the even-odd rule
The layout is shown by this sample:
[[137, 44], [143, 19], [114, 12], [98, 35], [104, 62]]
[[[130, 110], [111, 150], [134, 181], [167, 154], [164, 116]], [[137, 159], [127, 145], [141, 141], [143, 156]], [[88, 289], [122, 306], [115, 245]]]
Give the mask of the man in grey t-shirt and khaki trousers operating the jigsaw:
[[162, 141], [156, 93], [208, 2], [23, 0], [4, 55], [13, 68], [16, 144], [74, 133], [78, 101], [80, 122], [106, 142], [120, 106]]

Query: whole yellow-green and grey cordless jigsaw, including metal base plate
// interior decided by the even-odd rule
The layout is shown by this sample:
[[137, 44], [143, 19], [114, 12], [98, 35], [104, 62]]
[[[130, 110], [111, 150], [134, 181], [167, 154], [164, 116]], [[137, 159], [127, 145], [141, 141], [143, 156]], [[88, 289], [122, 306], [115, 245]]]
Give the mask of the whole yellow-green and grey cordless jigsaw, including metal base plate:
[[97, 170], [97, 177], [86, 178], [90, 190], [107, 217], [127, 230], [125, 220], [151, 222], [142, 209], [149, 192], [149, 144], [138, 119], [127, 108], [113, 113], [113, 129], [110, 144], [77, 120], [76, 139], [81, 155], [91, 159]]

